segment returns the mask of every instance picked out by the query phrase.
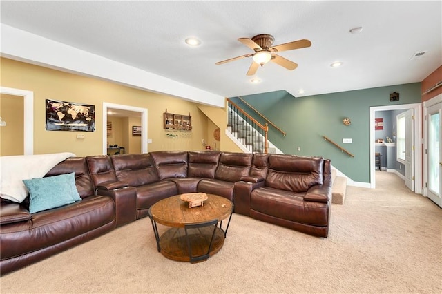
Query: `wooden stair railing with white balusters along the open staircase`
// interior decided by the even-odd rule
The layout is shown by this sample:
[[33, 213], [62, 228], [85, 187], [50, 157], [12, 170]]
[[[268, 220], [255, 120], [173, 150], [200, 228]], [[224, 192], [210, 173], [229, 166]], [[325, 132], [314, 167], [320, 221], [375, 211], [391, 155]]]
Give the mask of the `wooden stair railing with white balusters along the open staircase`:
[[[267, 133], [269, 132], [269, 125], [265, 123], [265, 125], [262, 125], [258, 122], [255, 118], [251, 117], [247, 112], [244, 112], [244, 110], [236, 105], [233, 101], [231, 101], [229, 98], [227, 98], [229, 112], [233, 112], [236, 115], [233, 115], [229, 113], [229, 123], [228, 125], [231, 126], [232, 132], [239, 132], [241, 128], [248, 128], [251, 127], [251, 130], [247, 130], [247, 134], [244, 134], [244, 139], [246, 140], [247, 144], [252, 145], [252, 153], [255, 153], [256, 151], [262, 152], [262, 149], [264, 149], [264, 153], [268, 152], [268, 140], [267, 140]], [[243, 131], [245, 131], [243, 129]], [[264, 146], [262, 146], [262, 137], [258, 136], [260, 134], [265, 142]], [[250, 135], [251, 138], [247, 138]], [[256, 146], [259, 146], [260, 148], [257, 148]]]

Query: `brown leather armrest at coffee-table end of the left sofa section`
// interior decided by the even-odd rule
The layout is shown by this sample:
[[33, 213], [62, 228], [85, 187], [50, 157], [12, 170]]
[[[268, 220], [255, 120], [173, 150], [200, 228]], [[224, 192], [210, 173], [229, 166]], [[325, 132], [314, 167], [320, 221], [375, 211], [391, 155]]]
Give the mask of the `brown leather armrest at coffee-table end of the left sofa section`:
[[117, 227], [137, 219], [137, 189], [135, 187], [123, 187], [113, 190], [97, 188], [96, 194], [111, 196], [115, 202]]

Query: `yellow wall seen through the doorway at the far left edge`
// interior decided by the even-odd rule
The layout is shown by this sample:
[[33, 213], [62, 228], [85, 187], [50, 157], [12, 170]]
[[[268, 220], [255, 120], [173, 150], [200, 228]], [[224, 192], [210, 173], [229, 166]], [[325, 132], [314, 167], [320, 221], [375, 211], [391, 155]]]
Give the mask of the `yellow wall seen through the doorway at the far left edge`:
[[23, 107], [23, 97], [0, 95], [0, 116], [6, 121], [0, 127], [0, 156], [23, 154]]

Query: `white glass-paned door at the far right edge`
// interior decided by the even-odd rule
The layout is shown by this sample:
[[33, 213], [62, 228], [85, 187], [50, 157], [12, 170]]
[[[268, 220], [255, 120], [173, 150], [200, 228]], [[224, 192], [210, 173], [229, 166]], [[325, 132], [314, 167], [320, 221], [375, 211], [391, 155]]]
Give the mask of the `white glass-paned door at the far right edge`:
[[442, 207], [442, 94], [423, 103], [424, 125], [424, 196]]

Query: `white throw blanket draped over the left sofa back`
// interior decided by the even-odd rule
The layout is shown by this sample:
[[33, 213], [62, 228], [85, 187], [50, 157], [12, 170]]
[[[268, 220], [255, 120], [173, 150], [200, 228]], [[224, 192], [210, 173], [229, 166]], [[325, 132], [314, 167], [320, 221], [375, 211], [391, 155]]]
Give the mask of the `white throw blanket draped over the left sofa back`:
[[23, 180], [43, 178], [57, 163], [75, 154], [70, 152], [55, 154], [0, 156], [0, 196], [14, 202], [23, 202], [28, 190]]

